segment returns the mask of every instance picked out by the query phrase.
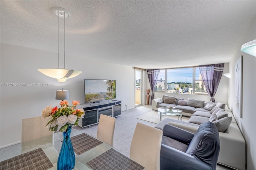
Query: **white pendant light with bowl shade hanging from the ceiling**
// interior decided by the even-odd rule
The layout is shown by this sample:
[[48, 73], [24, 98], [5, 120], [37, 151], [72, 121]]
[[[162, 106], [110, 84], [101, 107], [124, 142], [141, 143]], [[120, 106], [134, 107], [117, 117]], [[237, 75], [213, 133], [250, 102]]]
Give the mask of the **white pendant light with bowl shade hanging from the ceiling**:
[[[82, 71], [77, 71], [73, 69], [66, 69], [65, 68], [65, 18], [70, 18], [70, 13], [60, 7], [53, 7], [52, 12], [58, 16], [58, 68], [56, 69], [38, 69], [44, 75], [48, 77], [52, 77], [57, 79], [58, 82], [65, 82], [66, 79], [70, 79], [72, 77], [76, 77], [77, 75], [81, 74]], [[64, 18], [64, 69], [60, 68], [60, 49], [59, 49], [59, 18]]]

